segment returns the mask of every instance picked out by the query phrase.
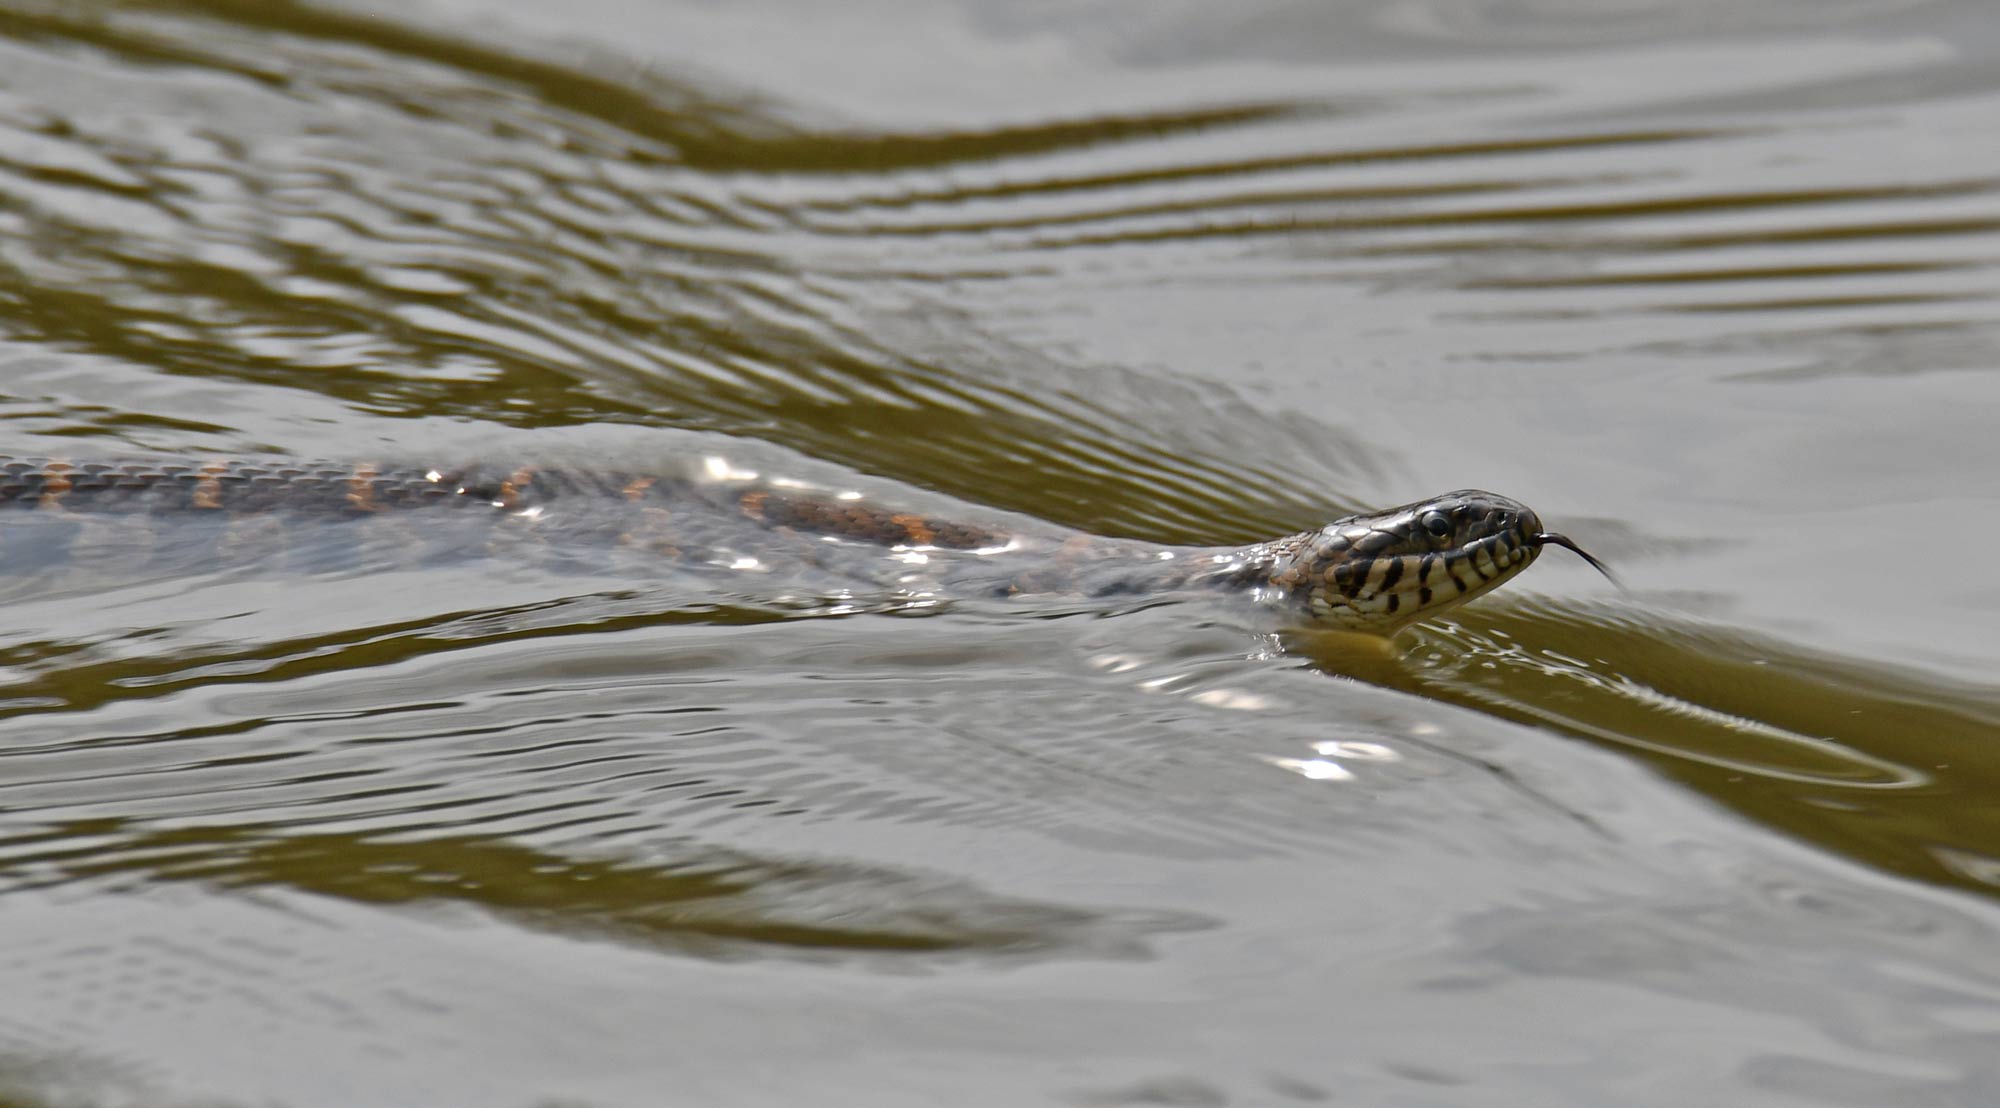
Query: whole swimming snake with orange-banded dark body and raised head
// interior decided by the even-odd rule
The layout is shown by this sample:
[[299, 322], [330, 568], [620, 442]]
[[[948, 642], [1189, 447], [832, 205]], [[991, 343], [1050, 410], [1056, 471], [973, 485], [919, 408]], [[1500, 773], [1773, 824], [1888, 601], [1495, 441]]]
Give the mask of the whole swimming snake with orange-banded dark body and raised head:
[[[720, 458], [662, 474], [282, 458], [0, 458], [0, 514], [8, 512], [60, 520], [58, 534], [112, 516], [206, 520], [202, 550], [212, 560], [264, 548], [244, 534], [270, 536], [272, 528], [324, 544], [328, 528], [368, 526], [390, 544], [438, 554], [466, 542], [468, 532], [456, 524], [480, 522], [516, 548], [598, 548], [616, 552], [626, 566], [652, 560], [764, 574], [794, 568], [832, 594], [852, 596], [852, 586], [946, 598], [1232, 590], [1318, 626], [1380, 636], [1494, 590], [1546, 546], [1568, 548], [1610, 576], [1582, 546], [1544, 530], [1526, 504], [1476, 488], [1248, 546], [1164, 546], [1054, 524], [948, 520], [858, 492], [762, 480]], [[4, 568], [24, 558], [6, 548], [14, 532], [0, 526]]]

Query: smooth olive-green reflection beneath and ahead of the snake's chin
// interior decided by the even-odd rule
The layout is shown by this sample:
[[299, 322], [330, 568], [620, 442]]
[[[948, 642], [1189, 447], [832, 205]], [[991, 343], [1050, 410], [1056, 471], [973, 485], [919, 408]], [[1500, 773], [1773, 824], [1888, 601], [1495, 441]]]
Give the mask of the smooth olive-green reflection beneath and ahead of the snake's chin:
[[1502, 600], [1330, 670], [1632, 754], [1762, 824], [1992, 894], [2000, 696], [1620, 604]]

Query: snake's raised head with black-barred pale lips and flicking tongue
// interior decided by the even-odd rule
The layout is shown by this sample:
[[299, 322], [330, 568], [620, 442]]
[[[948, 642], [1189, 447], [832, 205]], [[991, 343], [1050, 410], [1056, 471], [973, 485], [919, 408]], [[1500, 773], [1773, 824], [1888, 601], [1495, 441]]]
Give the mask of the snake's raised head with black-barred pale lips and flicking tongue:
[[1302, 594], [1314, 618], [1370, 634], [1396, 630], [1480, 596], [1528, 568], [1542, 546], [1602, 564], [1518, 500], [1476, 488], [1308, 532], [1272, 584]]

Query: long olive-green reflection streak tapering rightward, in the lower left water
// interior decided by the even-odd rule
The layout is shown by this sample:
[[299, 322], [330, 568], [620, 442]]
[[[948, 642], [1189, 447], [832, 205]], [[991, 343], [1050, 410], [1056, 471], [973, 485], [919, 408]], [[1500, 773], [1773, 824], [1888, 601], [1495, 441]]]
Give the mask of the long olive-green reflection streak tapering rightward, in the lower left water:
[[[80, 852], [76, 840], [96, 848]], [[36, 842], [48, 850], [38, 852]], [[778, 862], [686, 844], [668, 862], [642, 864], [574, 858], [488, 836], [370, 838], [90, 820], [16, 838], [8, 848], [16, 862], [42, 864], [32, 888], [198, 882], [222, 890], [286, 888], [374, 906], [478, 908], [512, 926], [702, 958], [770, 958], [774, 948], [1140, 958], [1148, 954], [1144, 932], [1198, 926], [1000, 898], [926, 874]]]

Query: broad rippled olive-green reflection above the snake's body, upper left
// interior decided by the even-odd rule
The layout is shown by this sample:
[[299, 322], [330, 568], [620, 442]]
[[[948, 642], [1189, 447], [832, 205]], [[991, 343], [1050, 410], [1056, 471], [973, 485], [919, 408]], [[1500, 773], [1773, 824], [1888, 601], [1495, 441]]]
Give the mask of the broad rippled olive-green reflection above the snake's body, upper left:
[[[724, 172], [884, 174], [1158, 140], [1290, 106], [968, 134], [804, 132], [636, 66], [606, 76], [306, 4], [130, 8], [186, 20], [14, 12], [0, 18], [0, 36], [84, 44], [114, 58], [116, 72], [172, 64], [250, 78], [272, 90], [272, 118], [246, 102], [240, 118], [218, 122], [230, 128], [226, 160], [184, 166], [164, 148], [126, 158], [144, 184], [124, 186], [120, 200], [184, 224], [172, 236], [148, 242], [130, 226], [82, 226], [56, 212], [38, 220], [26, 244], [36, 268], [0, 270], [0, 298], [22, 340], [190, 378], [310, 390], [372, 416], [754, 434], [986, 504], [1174, 542], [1258, 538], [1280, 518], [1352, 504], [1342, 488], [1300, 472], [1306, 446], [1320, 474], [1382, 468], [1354, 436], [1308, 422], [1272, 428], [1224, 388], [1110, 366], [1092, 366], [1092, 396], [1014, 384], [1074, 378], [1078, 366], [952, 326], [962, 296], [954, 286], [980, 274], [924, 278], [938, 286], [924, 334], [886, 330], [904, 314], [826, 320], [816, 298], [828, 284], [900, 282], [898, 250], [870, 250], [880, 272], [824, 272], [798, 242], [842, 234], [838, 222], [814, 222], [806, 206], [774, 210], [756, 196], [690, 188]], [[204, 36], [206, 20], [282, 32], [294, 50], [286, 64], [266, 64], [232, 38]], [[454, 86], [426, 98], [398, 82], [398, 66], [440, 66]], [[332, 106], [286, 94], [316, 82], [386, 116], [362, 130]], [[304, 120], [288, 120], [294, 112]], [[300, 128], [352, 152], [300, 154]], [[614, 180], [606, 166], [642, 184]], [[230, 178], [248, 210], [228, 226], [202, 224], [176, 182], [196, 168]], [[678, 208], [700, 212], [698, 224]], [[270, 230], [294, 220], [324, 220], [338, 246], [312, 240], [318, 232], [302, 240]], [[220, 250], [192, 248], [198, 242]], [[236, 262], [246, 254], [258, 264]], [[406, 268], [426, 284], [400, 280]], [[1190, 410], [1220, 420], [1214, 436], [1236, 444], [1226, 460], [1188, 448], [1180, 416]]]

